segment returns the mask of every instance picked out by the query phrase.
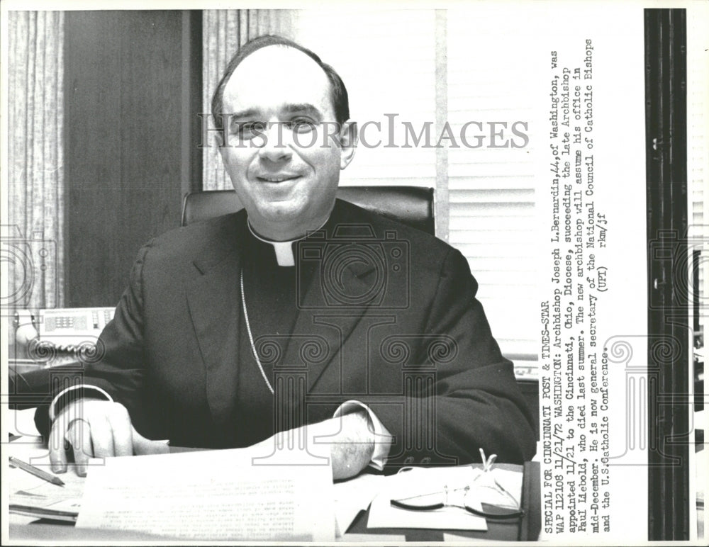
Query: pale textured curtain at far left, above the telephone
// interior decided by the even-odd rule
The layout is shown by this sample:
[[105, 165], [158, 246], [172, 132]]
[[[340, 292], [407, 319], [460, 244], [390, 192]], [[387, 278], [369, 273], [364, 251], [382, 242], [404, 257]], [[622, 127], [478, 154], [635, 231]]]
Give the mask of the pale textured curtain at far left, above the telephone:
[[8, 13], [4, 308], [64, 305], [63, 30], [59, 11]]

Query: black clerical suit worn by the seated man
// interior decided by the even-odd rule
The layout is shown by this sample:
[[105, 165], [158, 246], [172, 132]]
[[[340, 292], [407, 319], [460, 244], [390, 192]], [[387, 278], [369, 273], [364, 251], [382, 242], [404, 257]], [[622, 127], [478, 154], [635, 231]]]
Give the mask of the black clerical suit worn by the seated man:
[[247, 446], [357, 400], [394, 436], [390, 466], [531, 458], [532, 417], [462, 254], [343, 201], [293, 250], [278, 266], [244, 210], [153, 239], [85, 382], [179, 446]]

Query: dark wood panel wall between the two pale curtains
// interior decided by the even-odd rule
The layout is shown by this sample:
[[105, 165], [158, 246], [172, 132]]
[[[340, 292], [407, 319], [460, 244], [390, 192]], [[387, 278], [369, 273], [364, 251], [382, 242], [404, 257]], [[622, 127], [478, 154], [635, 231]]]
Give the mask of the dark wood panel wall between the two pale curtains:
[[115, 305], [140, 245], [201, 186], [200, 47], [199, 12], [66, 13], [68, 306]]

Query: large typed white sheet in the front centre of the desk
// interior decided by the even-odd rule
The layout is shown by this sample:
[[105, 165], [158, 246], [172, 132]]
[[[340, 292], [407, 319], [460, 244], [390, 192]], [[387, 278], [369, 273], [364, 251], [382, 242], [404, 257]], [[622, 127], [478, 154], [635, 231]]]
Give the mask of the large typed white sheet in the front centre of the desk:
[[253, 449], [106, 459], [89, 472], [77, 527], [180, 539], [333, 541], [330, 465], [290, 452], [291, 465], [284, 458], [256, 463]]

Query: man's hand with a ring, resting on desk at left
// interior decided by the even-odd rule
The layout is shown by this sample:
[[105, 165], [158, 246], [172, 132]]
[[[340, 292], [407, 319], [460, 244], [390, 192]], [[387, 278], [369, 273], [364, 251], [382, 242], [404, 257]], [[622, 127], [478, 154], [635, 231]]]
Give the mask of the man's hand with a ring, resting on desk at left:
[[87, 398], [69, 403], [52, 423], [49, 458], [55, 473], [66, 472], [67, 451], [74, 455], [77, 474], [84, 477], [89, 458], [164, 453], [168, 448], [135, 431], [120, 403]]

